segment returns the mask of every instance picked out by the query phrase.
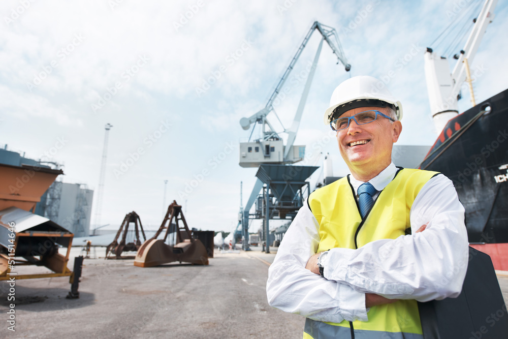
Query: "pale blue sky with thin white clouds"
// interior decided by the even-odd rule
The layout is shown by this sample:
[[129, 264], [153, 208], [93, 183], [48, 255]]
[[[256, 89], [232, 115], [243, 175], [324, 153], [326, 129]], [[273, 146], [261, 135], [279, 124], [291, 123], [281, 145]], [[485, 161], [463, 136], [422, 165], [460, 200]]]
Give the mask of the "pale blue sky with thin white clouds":
[[[307, 165], [321, 166], [330, 153], [339, 176], [347, 167], [323, 124], [333, 89], [351, 76], [381, 79], [402, 102], [398, 144], [432, 145], [425, 49], [447, 52], [447, 45], [430, 44], [477, 4], [2, 1], [0, 146], [62, 164], [64, 182], [86, 184], [97, 196], [105, 125], [111, 124], [99, 225], [117, 229], [134, 210], [146, 229], [156, 229], [164, 202], [176, 200], [189, 227], [230, 232], [238, 223], [240, 182], [245, 204], [257, 170], [238, 165], [239, 142], [251, 132], [239, 120], [266, 105], [314, 21], [336, 29], [352, 67], [346, 72], [323, 45], [295, 145], [307, 146]], [[494, 13], [469, 63], [477, 103], [508, 88], [506, 2]], [[320, 39], [312, 34], [285, 84], [289, 94], [277, 101], [282, 126], [268, 115], [277, 132], [291, 126]], [[449, 42], [457, 45], [453, 53], [463, 46], [455, 36]], [[468, 90], [462, 94], [460, 111], [471, 107]], [[252, 222], [250, 231], [259, 225]]]

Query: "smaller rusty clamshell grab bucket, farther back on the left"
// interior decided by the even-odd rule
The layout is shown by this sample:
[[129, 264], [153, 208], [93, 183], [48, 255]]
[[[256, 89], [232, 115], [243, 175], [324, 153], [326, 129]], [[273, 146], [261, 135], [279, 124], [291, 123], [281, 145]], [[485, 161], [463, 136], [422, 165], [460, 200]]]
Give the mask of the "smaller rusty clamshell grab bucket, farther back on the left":
[[[141, 246], [141, 240], [139, 240], [139, 228], [141, 228], [141, 234], [143, 234], [143, 240], [146, 240], [145, 232], [143, 231], [143, 225], [141, 225], [141, 219], [138, 213], [132, 211], [131, 213], [125, 214], [122, 224], [116, 233], [115, 239], [106, 248], [106, 258], [109, 258], [110, 254], [114, 254], [116, 259], [122, 259], [121, 254], [123, 251], [138, 251]], [[129, 225], [134, 224], [135, 234], [129, 233]], [[122, 239], [118, 242], [118, 238], [123, 231]], [[126, 257], [125, 257], [126, 259]], [[132, 257], [130, 258], [132, 259]]]

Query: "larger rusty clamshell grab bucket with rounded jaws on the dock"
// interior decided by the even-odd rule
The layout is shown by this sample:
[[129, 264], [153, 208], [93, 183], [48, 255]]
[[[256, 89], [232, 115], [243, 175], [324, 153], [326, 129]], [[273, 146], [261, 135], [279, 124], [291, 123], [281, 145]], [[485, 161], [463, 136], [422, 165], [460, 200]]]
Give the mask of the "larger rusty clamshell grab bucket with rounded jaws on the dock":
[[[173, 224], [172, 222], [175, 222]], [[180, 227], [179, 221], [183, 223]], [[166, 226], [166, 223], [168, 226]], [[164, 239], [157, 236], [166, 229]], [[168, 235], [170, 235], [168, 239]], [[166, 240], [169, 240], [169, 244]], [[208, 255], [203, 243], [194, 239], [183, 217], [182, 206], [176, 201], [168, 206], [168, 211], [155, 235], [146, 240], [136, 253], [134, 265], [139, 267], [152, 267], [173, 261], [187, 262], [197, 265], [208, 265]]]

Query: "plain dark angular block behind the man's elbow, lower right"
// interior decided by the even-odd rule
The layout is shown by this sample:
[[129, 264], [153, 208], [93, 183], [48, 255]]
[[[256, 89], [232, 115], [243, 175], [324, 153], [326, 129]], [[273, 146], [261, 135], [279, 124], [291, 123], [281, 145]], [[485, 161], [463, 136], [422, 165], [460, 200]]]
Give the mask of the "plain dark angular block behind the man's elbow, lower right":
[[508, 313], [490, 257], [469, 247], [457, 298], [419, 302], [425, 339], [506, 339]]

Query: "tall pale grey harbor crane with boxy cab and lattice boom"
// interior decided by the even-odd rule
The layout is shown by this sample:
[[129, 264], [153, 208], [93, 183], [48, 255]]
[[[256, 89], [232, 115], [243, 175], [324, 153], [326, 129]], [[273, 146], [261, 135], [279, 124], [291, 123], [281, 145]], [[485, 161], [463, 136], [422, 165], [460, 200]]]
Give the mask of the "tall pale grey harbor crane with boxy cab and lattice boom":
[[[284, 145], [282, 138], [280, 137], [279, 133], [277, 133], [273, 128], [272, 124], [267, 118], [267, 115], [273, 111], [273, 113], [277, 116], [274, 110], [274, 102], [278, 97], [278, 95], [281, 93], [285, 81], [288, 80], [291, 71], [295, 67], [298, 58], [300, 57], [303, 49], [307, 45], [314, 30], [317, 30], [322, 35], [322, 39], [314, 56], [312, 66], [310, 68], [309, 75], [306, 80], [305, 87], [303, 89], [302, 97], [296, 110], [295, 118], [293, 119], [293, 123], [290, 128], [288, 129], [284, 128], [284, 131], [282, 132], [287, 133], [287, 143]], [[252, 114], [250, 117], [244, 117], [240, 119], [240, 125], [244, 130], [249, 130], [252, 124], [261, 124], [262, 126], [262, 136], [260, 139], [250, 140], [249, 137], [249, 140], [247, 142], [240, 143], [240, 166], [259, 167], [262, 164], [287, 165], [294, 164], [303, 160], [305, 156], [305, 146], [295, 146], [293, 145], [293, 143], [295, 141], [296, 134], [298, 132], [298, 127], [300, 125], [300, 120], [302, 118], [303, 109], [305, 107], [305, 103], [309, 95], [310, 85], [314, 77], [317, 61], [319, 60], [319, 56], [321, 54], [323, 41], [327, 42], [327, 44], [332, 49], [332, 52], [336, 55], [337, 64], [339, 64], [340, 62], [342, 65], [344, 65], [346, 72], [351, 70], [351, 65], [347, 62], [347, 59], [344, 55], [335, 29], [315, 21], [310, 27], [307, 35], [303, 39], [303, 42], [298, 48], [295, 56], [291, 60], [290, 65], [285, 70], [279, 82], [277, 83], [277, 86], [275, 87], [275, 90], [268, 99], [268, 102], [266, 103], [265, 107], [263, 107], [257, 113]], [[277, 119], [280, 122], [278, 116]], [[282, 125], [281, 122], [280, 124]], [[255, 125], [252, 127], [252, 132], [255, 127], [256, 127]], [[250, 133], [250, 136], [252, 136], [252, 132]], [[244, 207], [242, 206], [240, 207], [237, 229], [240, 225], [242, 226], [242, 236], [243, 236], [242, 249], [245, 251], [249, 250], [248, 244], [249, 210], [256, 201], [258, 194], [260, 193], [262, 188], [263, 181], [258, 177], [256, 183], [254, 184], [250, 197], [247, 200], [247, 203], [245, 204]], [[267, 232], [265, 234], [268, 235], [269, 234], [268, 225], [266, 225], [266, 228]], [[268, 241], [267, 241], [267, 249], [268, 249]]]

